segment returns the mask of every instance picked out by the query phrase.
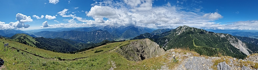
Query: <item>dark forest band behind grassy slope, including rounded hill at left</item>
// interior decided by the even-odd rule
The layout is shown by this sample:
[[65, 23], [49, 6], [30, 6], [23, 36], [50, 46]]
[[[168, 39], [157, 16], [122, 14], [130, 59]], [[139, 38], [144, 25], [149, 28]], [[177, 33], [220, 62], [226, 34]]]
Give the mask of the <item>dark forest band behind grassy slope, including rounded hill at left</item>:
[[50, 50], [53, 52], [61, 53], [77, 53], [86, 51], [98, 46], [105, 45], [107, 43], [113, 43], [117, 41], [103, 40], [100, 43], [79, 43], [70, 39], [63, 38], [33, 38], [27, 34], [15, 34], [10, 37], [9, 40], [33, 46], [36, 48]]

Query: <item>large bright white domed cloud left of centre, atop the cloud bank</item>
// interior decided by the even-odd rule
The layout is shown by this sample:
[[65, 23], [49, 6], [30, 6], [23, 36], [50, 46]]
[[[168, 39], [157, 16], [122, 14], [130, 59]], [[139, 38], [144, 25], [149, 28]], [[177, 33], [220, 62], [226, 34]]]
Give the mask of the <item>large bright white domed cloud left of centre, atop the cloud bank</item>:
[[103, 18], [103, 17], [118, 18], [116, 11], [114, 11], [111, 7], [98, 6], [98, 5], [91, 7], [91, 10], [87, 13], [87, 16], [93, 17], [93, 18]]

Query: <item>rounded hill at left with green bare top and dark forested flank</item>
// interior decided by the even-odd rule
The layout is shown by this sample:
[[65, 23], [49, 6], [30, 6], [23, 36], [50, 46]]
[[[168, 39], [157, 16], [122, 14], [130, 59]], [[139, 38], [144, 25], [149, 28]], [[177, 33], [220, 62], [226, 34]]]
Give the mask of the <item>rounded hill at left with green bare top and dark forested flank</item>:
[[77, 42], [69, 39], [60, 39], [60, 38], [52, 39], [52, 38], [43, 38], [43, 37], [33, 38], [27, 34], [15, 34], [14, 36], [10, 37], [9, 40], [26, 44], [28, 46], [33, 46], [36, 48], [41, 48], [44, 50], [54, 51], [54, 52], [67, 53], [67, 52], [79, 50], [79, 48], [73, 45], [73, 44], [77, 44]]

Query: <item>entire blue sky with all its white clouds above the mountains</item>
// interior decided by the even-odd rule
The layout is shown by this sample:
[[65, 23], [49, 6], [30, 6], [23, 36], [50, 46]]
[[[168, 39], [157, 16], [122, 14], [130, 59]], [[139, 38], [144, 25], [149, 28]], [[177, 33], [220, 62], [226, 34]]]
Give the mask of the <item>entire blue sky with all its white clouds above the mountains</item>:
[[257, 0], [1, 0], [0, 29], [128, 26], [258, 30]]

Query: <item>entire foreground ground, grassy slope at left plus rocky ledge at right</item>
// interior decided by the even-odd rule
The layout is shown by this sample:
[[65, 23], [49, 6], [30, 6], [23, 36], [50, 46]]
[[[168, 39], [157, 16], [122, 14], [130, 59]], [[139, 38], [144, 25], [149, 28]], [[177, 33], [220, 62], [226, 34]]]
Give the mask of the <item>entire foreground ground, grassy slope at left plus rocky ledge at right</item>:
[[[253, 54], [247, 59], [236, 59], [228, 56], [208, 57], [200, 56], [196, 52], [182, 49], [167, 50], [164, 55], [144, 59], [142, 61], [129, 61], [122, 55], [114, 52], [119, 46], [136, 40], [115, 42], [99, 46], [78, 54], [57, 53], [34, 48], [21, 43], [0, 39], [0, 58], [5, 61], [0, 67], [2, 70], [209, 70], [209, 69], [257, 69], [257, 55]], [[8, 50], [3, 44], [9, 43]], [[6, 48], [6, 47], [5, 47]], [[18, 51], [19, 49], [19, 51]], [[95, 53], [97, 50], [103, 52]], [[175, 58], [174, 58], [175, 57]], [[78, 59], [79, 58], [79, 59]]]

